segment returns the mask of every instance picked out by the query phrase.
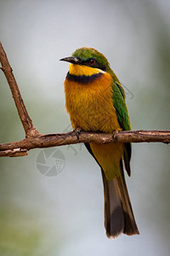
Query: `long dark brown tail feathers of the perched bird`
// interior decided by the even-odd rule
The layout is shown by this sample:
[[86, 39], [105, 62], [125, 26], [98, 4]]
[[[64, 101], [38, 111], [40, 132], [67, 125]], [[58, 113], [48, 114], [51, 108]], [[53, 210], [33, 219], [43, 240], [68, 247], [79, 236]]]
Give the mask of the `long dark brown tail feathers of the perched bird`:
[[106, 179], [103, 170], [101, 172], [104, 183], [105, 230], [107, 236], [115, 238], [122, 233], [128, 236], [139, 234], [127, 192], [122, 162], [120, 177], [115, 177], [112, 181]]

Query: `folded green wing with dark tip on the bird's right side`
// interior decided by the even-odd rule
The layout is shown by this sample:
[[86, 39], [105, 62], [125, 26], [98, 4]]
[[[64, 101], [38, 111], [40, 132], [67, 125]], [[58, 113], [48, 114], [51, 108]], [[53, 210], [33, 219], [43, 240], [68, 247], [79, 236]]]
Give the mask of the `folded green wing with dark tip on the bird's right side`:
[[[125, 102], [125, 93], [122, 85], [116, 81], [112, 84], [113, 88], [113, 105], [116, 109], [116, 115], [122, 130], [131, 130], [130, 119], [128, 117], [127, 105]], [[123, 154], [123, 159], [127, 174], [130, 176], [130, 159], [131, 159], [132, 145], [131, 143], [125, 143], [125, 151]]]

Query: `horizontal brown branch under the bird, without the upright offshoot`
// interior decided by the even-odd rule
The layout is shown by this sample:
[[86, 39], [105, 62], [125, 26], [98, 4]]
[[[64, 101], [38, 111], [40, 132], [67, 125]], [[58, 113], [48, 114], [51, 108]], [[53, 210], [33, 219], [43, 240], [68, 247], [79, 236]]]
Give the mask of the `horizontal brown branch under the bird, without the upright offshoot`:
[[81, 131], [79, 138], [76, 131], [38, 134], [36, 137], [26, 137], [20, 142], [0, 144], [0, 153], [19, 148], [30, 150], [77, 143], [170, 143], [170, 131], [117, 131], [115, 134]]

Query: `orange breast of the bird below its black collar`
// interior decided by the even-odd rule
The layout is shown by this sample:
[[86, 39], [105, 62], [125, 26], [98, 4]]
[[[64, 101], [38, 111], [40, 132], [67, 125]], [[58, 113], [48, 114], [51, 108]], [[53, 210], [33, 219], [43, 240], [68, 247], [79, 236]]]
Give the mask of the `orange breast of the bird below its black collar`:
[[73, 129], [112, 132], [120, 130], [113, 107], [111, 75], [103, 73], [89, 84], [65, 79], [65, 107]]

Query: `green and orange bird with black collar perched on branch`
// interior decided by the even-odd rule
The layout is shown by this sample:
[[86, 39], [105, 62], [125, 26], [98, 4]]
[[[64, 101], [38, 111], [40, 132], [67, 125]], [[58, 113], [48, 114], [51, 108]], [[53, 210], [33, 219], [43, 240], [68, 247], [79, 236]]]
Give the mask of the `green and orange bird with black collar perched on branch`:
[[[130, 131], [125, 92], [105, 55], [82, 47], [60, 61], [70, 63], [65, 78], [65, 108], [73, 130], [112, 133]], [[124, 170], [131, 174], [131, 143], [85, 143], [101, 168], [105, 230], [108, 238], [139, 234], [127, 192]]]

